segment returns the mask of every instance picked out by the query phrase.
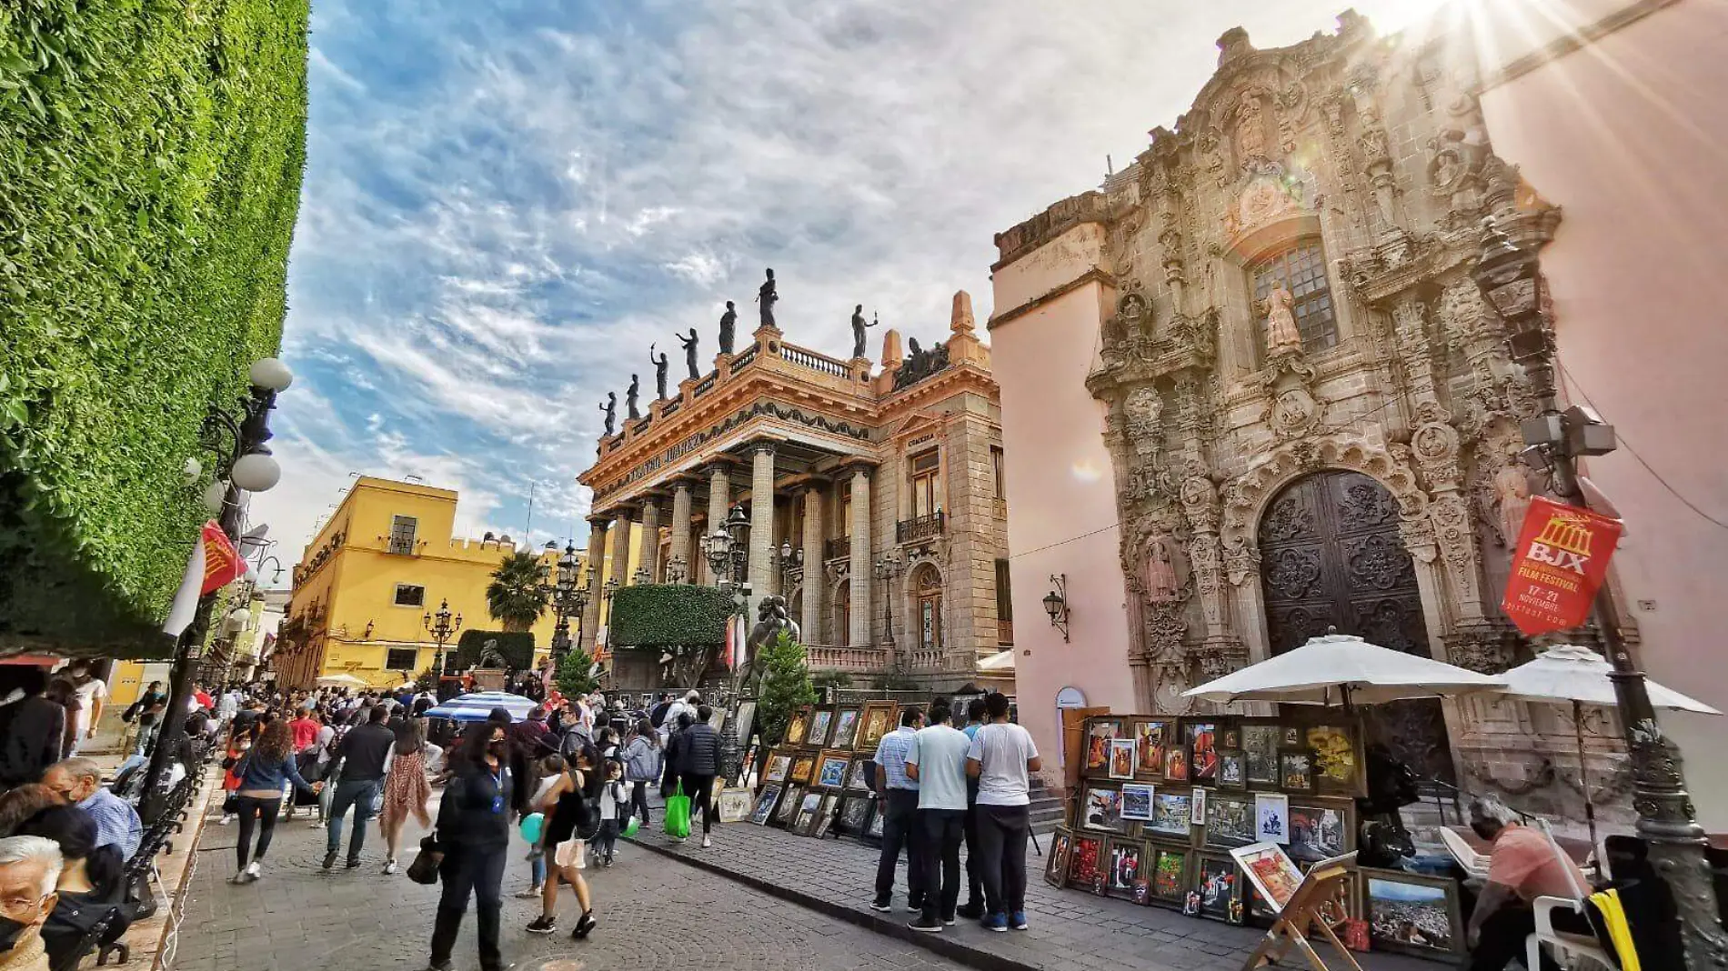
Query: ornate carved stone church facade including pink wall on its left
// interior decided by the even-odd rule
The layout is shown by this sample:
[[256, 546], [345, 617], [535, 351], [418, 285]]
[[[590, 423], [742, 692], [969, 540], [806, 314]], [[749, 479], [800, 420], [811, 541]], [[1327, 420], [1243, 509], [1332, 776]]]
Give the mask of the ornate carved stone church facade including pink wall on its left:
[[[1066, 638], [1023, 620], [1016, 648], [1040, 746], [1058, 705], [1203, 712], [1187, 688], [1331, 629], [1484, 672], [1531, 657], [1498, 601], [1534, 403], [1471, 270], [1484, 216], [1541, 244], [1559, 211], [1495, 155], [1458, 38], [1344, 14], [1218, 52], [1134, 164], [995, 240], [1014, 589], [1023, 617], [1058, 581], [1070, 608]], [[1583, 817], [1555, 710], [1369, 720], [1431, 779]], [[1614, 817], [1624, 758], [1588, 727]]]

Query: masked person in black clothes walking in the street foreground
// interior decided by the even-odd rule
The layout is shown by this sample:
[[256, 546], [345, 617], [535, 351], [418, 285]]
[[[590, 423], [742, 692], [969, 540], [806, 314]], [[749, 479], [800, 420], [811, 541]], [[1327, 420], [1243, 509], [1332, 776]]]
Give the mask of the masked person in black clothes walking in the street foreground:
[[439, 878], [444, 892], [432, 924], [432, 964], [454, 968], [451, 952], [468, 898], [475, 898], [480, 971], [501, 971], [498, 923], [503, 907], [505, 860], [510, 848], [510, 745], [505, 726], [491, 720], [461, 736], [461, 760], [439, 803], [435, 845], [444, 854]]

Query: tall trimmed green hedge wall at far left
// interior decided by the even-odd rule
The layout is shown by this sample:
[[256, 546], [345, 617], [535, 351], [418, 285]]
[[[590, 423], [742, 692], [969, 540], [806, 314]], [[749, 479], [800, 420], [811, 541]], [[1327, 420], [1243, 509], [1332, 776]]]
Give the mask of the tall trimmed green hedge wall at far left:
[[308, 0], [0, 3], [0, 648], [166, 612], [199, 422], [280, 346], [306, 29]]

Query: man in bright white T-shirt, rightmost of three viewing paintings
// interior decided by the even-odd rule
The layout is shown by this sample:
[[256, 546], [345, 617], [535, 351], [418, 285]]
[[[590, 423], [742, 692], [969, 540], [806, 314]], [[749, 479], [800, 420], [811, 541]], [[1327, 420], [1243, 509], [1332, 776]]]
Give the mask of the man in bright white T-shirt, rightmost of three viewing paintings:
[[966, 774], [978, 779], [978, 848], [983, 857], [983, 926], [1026, 930], [1026, 838], [1032, 772], [1044, 767], [1032, 734], [1007, 720], [1007, 696], [983, 700], [988, 724], [973, 736]]

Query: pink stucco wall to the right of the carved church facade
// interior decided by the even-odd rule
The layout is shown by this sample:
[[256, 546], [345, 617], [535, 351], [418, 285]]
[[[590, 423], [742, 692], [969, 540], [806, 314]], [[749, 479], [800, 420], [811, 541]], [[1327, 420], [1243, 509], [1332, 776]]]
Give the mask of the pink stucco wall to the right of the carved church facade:
[[[1483, 97], [1495, 150], [1566, 211], [1543, 270], [1571, 397], [1588, 397], [1621, 434], [1621, 451], [1593, 460], [1588, 473], [1626, 518], [1614, 568], [1635, 605], [1645, 669], [1721, 710], [1725, 41], [1728, 5], [1683, 0]], [[1687, 755], [1700, 821], [1728, 831], [1728, 724], [1702, 715], [1661, 720]]]

